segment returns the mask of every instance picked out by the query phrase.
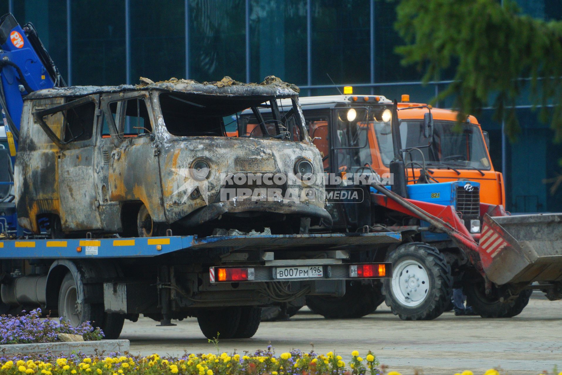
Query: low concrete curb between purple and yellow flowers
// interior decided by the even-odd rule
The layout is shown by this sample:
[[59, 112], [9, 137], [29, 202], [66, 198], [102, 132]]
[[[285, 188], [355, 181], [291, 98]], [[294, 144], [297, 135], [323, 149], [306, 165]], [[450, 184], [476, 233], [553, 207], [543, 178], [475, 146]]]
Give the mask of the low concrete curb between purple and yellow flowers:
[[105, 351], [106, 354], [112, 351], [129, 351], [129, 340], [101, 340], [101, 341], [74, 341], [74, 342], [44, 342], [42, 344], [9, 344], [0, 345], [0, 354], [51, 354], [81, 351], [85, 355], [93, 355]]

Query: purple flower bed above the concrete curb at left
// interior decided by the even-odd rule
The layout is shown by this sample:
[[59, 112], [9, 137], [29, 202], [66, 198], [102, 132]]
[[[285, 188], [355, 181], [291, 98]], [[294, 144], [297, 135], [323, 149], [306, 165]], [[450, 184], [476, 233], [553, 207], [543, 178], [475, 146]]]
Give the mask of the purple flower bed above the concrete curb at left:
[[39, 342], [57, 342], [59, 333], [80, 335], [84, 341], [103, 339], [103, 331], [93, 328], [89, 322], [79, 327], [72, 327], [69, 322], [60, 319], [40, 319], [41, 309], [35, 309], [28, 315], [13, 317], [0, 316], [0, 344], [32, 344]]

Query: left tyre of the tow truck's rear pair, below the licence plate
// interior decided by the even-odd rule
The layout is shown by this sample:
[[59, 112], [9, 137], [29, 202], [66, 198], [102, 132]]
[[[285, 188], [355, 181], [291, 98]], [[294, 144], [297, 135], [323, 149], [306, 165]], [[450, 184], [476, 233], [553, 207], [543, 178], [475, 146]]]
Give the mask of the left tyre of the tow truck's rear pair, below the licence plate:
[[[197, 323], [207, 339], [233, 339], [238, 330], [242, 315], [241, 307], [229, 307], [220, 310], [202, 311], [197, 316]], [[257, 329], [257, 328], [256, 328]], [[220, 337], [217, 336], [220, 334]]]

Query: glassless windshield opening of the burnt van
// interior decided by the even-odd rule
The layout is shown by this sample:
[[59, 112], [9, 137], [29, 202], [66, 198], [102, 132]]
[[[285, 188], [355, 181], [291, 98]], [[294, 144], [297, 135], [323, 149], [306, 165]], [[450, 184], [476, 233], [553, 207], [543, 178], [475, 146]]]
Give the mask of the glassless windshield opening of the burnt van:
[[[166, 129], [175, 136], [240, 136], [301, 140], [300, 108], [280, 111], [275, 97], [224, 97], [161, 93], [160, 109]], [[298, 106], [296, 101], [294, 106]], [[251, 113], [242, 116], [242, 113]], [[252, 125], [253, 124], [253, 125]], [[251, 128], [251, 129], [250, 129]], [[238, 130], [238, 132], [236, 132]]]

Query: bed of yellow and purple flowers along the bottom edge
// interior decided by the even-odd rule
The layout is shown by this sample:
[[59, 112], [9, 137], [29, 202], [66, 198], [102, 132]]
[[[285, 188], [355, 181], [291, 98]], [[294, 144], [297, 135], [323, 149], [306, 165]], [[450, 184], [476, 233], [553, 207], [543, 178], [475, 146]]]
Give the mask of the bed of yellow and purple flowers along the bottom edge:
[[[0, 375], [383, 375], [384, 366], [370, 351], [361, 357], [357, 351], [345, 363], [332, 352], [317, 355], [314, 352], [275, 355], [271, 347], [245, 354], [186, 354], [182, 358], [160, 358], [109, 355], [84, 356], [71, 354], [63, 357], [48, 355], [25, 358], [0, 358]], [[495, 369], [484, 375], [499, 375]], [[543, 372], [543, 374], [546, 374]], [[558, 374], [561, 375], [562, 373]], [[386, 375], [400, 375], [396, 371]], [[470, 371], [455, 375], [474, 375]]]

